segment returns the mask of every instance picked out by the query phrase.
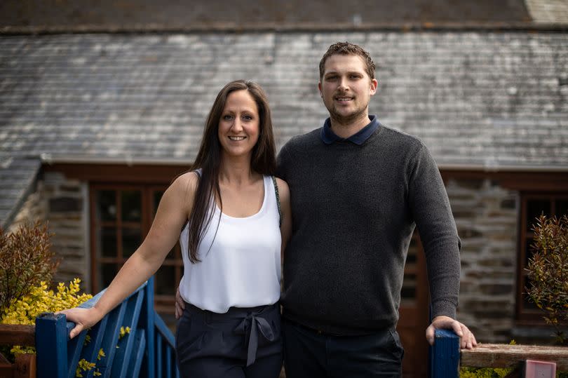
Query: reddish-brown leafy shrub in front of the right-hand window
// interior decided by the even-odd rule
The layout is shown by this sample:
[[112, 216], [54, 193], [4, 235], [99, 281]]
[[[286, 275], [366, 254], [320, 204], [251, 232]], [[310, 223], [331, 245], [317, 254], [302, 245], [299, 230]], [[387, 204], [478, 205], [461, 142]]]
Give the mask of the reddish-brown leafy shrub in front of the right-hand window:
[[541, 215], [533, 227], [534, 250], [527, 266], [527, 295], [543, 311], [546, 323], [555, 327], [559, 344], [567, 345], [562, 328], [568, 326], [568, 217]]

